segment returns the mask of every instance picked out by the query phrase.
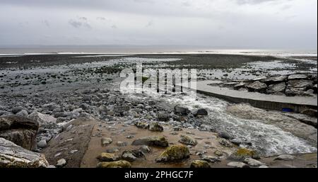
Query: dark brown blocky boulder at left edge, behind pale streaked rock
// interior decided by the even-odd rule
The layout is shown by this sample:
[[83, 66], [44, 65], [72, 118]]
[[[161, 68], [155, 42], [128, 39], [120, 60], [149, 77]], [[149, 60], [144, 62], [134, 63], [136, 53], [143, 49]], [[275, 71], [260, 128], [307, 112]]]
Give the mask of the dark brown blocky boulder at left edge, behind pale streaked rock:
[[35, 137], [39, 124], [18, 116], [0, 117], [0, 137], [28, 150], [36, 149]]

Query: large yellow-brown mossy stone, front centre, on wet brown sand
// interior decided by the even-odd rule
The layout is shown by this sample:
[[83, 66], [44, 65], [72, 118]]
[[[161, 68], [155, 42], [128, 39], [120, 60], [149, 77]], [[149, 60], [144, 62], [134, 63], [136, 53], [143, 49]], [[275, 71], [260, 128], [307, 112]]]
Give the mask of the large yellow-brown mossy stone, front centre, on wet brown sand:
[[182, 161], [183, 159], [189, 159], [189, 149], [184, 145], [172, 145], [165, 149], [165, 152], [155, 159], [157, 162], [171, 162]]

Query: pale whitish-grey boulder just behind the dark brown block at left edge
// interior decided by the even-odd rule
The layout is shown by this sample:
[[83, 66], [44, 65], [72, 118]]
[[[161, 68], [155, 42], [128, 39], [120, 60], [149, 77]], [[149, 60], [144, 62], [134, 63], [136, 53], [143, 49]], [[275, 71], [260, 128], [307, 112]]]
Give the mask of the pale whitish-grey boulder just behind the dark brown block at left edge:
[[28, 119], [35, 120], [39, 123], [40, 127], [52, 127], [57, 124], [57, 118], [39, 112], [30, 113], [30, 115], [28, 115]]

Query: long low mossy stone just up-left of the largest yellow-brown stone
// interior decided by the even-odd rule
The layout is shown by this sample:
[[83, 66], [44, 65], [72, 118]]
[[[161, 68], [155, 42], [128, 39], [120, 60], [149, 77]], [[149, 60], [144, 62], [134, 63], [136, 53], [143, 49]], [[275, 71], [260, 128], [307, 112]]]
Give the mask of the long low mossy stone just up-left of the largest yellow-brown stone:
[[163, 136], [142, 137], [132, 142], [132, 145], [148, 145], [153, 147], [167, 147], [169, 144]]

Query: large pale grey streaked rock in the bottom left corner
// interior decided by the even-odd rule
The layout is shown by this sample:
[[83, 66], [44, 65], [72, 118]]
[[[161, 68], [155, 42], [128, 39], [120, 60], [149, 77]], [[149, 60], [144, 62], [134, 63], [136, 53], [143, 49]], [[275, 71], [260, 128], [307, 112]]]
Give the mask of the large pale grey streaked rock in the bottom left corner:
[[0, 168], [38, 168], [47, 167], [45, 156], [31, 152], [11, 141], [0, 137]]

